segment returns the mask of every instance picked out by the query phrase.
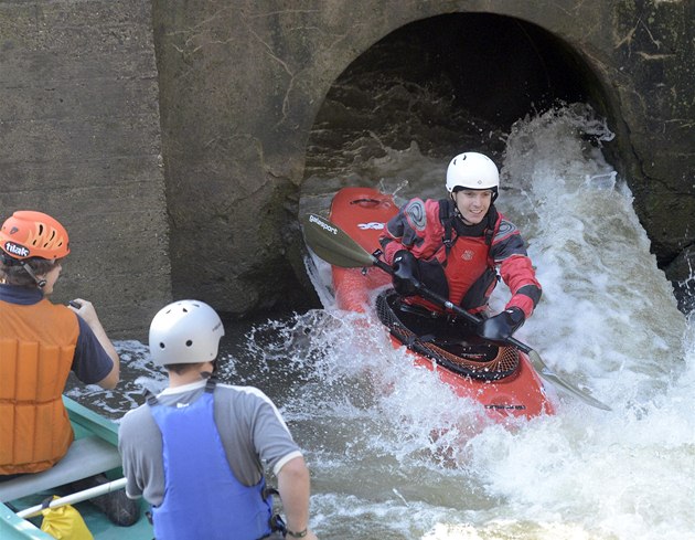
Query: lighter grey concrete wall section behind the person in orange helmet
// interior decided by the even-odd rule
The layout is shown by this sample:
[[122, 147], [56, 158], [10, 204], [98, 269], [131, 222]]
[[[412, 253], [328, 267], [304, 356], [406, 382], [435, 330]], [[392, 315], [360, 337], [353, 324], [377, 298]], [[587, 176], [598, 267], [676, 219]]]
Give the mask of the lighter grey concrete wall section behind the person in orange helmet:
[[150, 3], [0, 1], [0, 216], [71, 237], [55, 301], [142, 338], [171, 298]]

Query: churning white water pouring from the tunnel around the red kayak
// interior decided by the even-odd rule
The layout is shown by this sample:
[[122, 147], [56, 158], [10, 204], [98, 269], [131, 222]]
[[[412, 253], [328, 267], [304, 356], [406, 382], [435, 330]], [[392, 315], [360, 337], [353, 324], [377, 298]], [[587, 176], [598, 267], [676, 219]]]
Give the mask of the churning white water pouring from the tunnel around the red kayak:
[[[498, 207], [544, 286], [517, 337], [612, 412], [559, 394], [554, 416], [472, 425], [474, 403], [414, 369], [378, 325], [336, 311], [320, 284], [327, 309], [239, 337], [224, 372], [281, 406], [312, 470], [320, 538], [693, 538], [695, 324], [677, 311], [624, 182], [584, 134], [611, 136], [581, 107], [517, 123]], [[320, 179], [307, 204], [376, 179], [398, 202], [440, 198], [445, 167], [416, 147], [389, 151], [348, 180]], [[132, 373], [125, 411], [141, 402], [138, 384], [163, 378], [139, 343], [119, 346]]]

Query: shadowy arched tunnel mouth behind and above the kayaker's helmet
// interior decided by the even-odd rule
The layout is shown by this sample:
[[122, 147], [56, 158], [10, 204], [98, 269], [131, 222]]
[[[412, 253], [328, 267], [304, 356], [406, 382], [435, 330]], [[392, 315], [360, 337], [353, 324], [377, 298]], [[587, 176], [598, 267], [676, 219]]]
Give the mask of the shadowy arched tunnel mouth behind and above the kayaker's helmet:
[[[509, 133], [518, 118], [558, 102], [588, 103], [609, 125], [619, 118], [603, 82], [573, 44], [514, 17], [489, 12], [438, 14], [392, 31], [354, 57], [335, 78], [309, 134], [304, 180], [316, 172], [318, 159], [325, 160], [331, 145], [350, 145], [350, 135], [373, 126], [374, 115], [388, 114], [368, 109], [374, 93], [386, 89], [381, 84], [386, 76], [400, 78], [405, 86], [432, 92], [436, 87], [431, 98], [450, 99], [450, 118], [428, 119], [426, 104], [408, 109], [408, 114], [419, 115], [420, 125], [439, 123], [449, 136], [437, 148], [414, 135], [421, 150], [442, 158], [460, 148], [452, 140], [457, 134], [478, 137], [467, 133], [471, 123], [461, 120], [471, 115], [499, 133]], [[466, 114], [458, 114], [462, 112]], [[386, 117], [384, 120], [389, 126], [398, 121]], [[407, 124], [411, 121], [413, 118], [403, 118], [402, 129], [396, 128], [392, 138], [379, 134], [385, 137], [382, 142], [392, 148], [409, 144]], [[491, 140], [488, 148], [480, 149], [499, 156], [503, 148], [499, 140]], [[331, 161], [336, 170], [346, 169], [349, 163], [340, 162], [340, 150], [335, 150]], [[378, 157], [379, 149], [375, 147], [374, 152]], [[619, 161], [613, 148], [608, 149], [607, 157]]]

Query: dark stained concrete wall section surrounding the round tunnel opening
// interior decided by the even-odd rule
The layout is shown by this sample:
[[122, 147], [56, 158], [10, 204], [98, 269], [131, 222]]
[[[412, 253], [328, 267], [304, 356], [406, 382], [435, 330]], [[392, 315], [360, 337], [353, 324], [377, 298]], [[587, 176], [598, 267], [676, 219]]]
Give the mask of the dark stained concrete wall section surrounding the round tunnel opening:
[[[568, 61], [567, 70], [592, 81], [592, 102], [617, 133], [612, 151], [632, 179], [660, 263], [695, 240], [693, 2], [153, 6], [175, 294], [197, 293], [236, 313], [296, 298], [287, 262], [301, 242], [296, 193], [324, 96], [392, 31], [452, 12], [517, 18], [564, 43], [581, 64]], [[201, 267], [196, 260], [211, 252]]]

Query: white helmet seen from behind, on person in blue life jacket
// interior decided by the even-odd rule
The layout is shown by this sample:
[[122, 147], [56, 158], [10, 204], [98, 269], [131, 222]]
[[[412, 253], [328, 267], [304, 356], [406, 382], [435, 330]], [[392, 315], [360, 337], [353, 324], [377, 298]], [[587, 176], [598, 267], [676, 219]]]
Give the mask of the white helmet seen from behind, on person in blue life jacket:
[[222, 336], [222, 320], [207, 304], [174, 301], [150, 324], [150, 354], [157, 366], [213, 361]]

